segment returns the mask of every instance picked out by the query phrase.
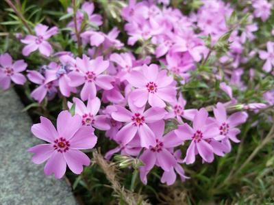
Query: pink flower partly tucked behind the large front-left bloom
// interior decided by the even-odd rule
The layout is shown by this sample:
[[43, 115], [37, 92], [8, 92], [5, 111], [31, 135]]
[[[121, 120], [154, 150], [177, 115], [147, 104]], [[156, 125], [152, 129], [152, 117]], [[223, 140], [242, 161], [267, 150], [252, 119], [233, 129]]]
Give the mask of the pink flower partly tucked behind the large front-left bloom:
[[[79, 98], [73, 98], [75, 102], [75, 113], [82, 116], [82, 125], [93, 126], [101, 131], [107, 131], [110, 129], [110, 125], [106, 122], [106, 115], [97, 115], [101, 101], [99, 98], [89, 98], [88, 105], [85, 105]], [[69, 109], [73, 104], [68, 103]]]

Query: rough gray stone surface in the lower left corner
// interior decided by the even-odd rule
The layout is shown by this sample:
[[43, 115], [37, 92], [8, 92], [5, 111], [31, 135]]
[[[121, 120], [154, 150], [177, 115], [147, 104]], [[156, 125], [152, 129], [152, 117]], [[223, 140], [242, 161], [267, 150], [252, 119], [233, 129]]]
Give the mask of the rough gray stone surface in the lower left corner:
[[31, 119], [14, 92], [0, 91], [0, 204], [77, 204], [64, 179], [45, 176], [44, 165], [32, 163], [27, 152], [38, 143]]

